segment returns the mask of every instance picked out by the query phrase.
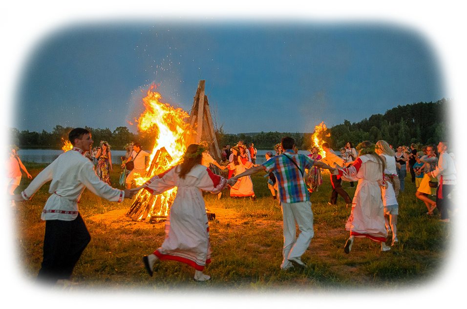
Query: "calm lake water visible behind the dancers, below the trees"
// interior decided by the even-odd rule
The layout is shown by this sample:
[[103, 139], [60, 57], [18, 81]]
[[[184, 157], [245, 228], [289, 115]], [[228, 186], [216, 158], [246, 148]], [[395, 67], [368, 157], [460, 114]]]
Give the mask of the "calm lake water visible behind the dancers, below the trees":
[[[274, 150], [258, 150], [256, 154], [256, 164], [263, 164], [266, 162], [266, 152], [271, 151], [276, 154]], [[58, 156], [64, 153], [63, 150], [51, 150], [51, 149], [21, 149], [18, 151], [18, 155], [21, 161], [24, 162], [35, 162], [35, 163], [52, 163]], [[121, 164], [121, 156], [124, 156], [125, 150], [112, 150], [112, 163]], [[308, 155], [309, 151], [299, 150], [298, 153]]]

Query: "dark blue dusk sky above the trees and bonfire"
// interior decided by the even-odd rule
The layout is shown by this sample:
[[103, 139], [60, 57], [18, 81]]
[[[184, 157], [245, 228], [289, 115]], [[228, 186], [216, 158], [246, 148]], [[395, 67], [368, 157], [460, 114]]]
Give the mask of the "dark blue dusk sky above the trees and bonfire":
[[5, 63], [0, 123], [39, 132], [57, 124], [130, 127], [153, 82], [188, 112], [206, 80], [211, 109], [229, 133], [313, 132], [321, 121], [330, 127], [467, 95], [459, 50], [438, 28], [457, 26], [459, 12], [465, 23], [466, 1], [437, 4], [437, 26], [384, 6], [193, 2], [68, 7], [36, 20]]

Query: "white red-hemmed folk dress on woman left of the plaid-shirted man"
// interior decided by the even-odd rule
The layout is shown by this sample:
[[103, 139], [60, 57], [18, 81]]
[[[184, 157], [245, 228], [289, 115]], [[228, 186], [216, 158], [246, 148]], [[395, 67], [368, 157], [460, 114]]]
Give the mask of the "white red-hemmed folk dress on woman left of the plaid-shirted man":
[[177, 187], [166, 221], [166, 239], [154, 254], [160, 260], [186, 263], [202, 271], [211, 262], [208, 216], [201, 190], [214, 194], [227, 185], [225, 178], [215, 175], [203, 165], [195, 165], [185, 179], [178, 176], [180, 165], [152, 177], [145, 189], [152, 195]]

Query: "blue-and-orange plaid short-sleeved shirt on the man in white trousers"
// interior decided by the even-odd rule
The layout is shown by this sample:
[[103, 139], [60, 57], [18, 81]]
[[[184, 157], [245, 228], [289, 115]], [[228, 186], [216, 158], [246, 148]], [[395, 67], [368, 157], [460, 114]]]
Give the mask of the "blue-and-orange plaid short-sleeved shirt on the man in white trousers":
[[272, 171], [276, 176], [280, 201], [290, 204], [310, 200], [302, 172], [305, 172], [305, 168], [310, 169], [314, 163], [315, 161], [308, 156], [286, 150], [281, 155], [263, 163], [263, 166], [267, 172]]

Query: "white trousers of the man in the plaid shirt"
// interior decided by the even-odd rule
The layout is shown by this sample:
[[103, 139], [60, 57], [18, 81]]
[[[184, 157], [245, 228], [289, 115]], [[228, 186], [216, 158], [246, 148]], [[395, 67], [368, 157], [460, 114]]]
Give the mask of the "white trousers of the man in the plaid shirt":
[[[311, 202], [280, 203], [282, 207], [282, 218], [284, 221], [284, 248], [282, 250], [282, 269], [292, 266], [291, 258], [300, 258], [310, 245], [315, 235], [313, 230], [313, 211]], [[295, 223], [297, 222], [300, 234], [297, 235]]]

